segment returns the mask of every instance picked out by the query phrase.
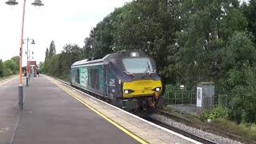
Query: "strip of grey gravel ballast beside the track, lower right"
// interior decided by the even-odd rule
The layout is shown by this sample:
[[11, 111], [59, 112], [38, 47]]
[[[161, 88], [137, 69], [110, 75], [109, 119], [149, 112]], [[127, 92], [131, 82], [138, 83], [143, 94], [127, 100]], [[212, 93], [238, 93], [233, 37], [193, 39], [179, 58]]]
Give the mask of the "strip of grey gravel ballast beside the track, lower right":
[[190, 134], [194, 134], [199, 137], [209, 139], [216, 143], [232, 143], [232, 144], [241, 144], [242, 143], [242, 142], [234, 141], [230, 138], [224, 138], [224, 137], [216, 135], [216, 134], [211, 134], [209, 132], [206, 132], [206, 131], [203, 131], [200, 129], [196, 129], [194, 127], [186, 126], [185, 124], [183, 124], [181, 122], [175, 122], [171, 118], [167, 118], [166, 116], [163, 116], [160, 114], [151, 114], [149, 117], [158, 122], [162, 122], [168, 126], [173, 126], [175, 128], [178, 128], [179, 130], [183, 130]]

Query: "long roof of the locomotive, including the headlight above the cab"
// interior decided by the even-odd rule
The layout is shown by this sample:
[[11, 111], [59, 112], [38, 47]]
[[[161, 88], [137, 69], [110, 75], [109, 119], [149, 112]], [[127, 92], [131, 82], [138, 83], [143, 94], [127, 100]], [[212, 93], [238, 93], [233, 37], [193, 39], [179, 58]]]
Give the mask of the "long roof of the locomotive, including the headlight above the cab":
[[118, 58], [127, 58], [133, 57], [131, 54], [135, 53], [134, 57], [148, 57], [143, 51], [141, 50], [121, 50], [116, 53], [107, 54], [104, 58], [90, 60], [90, 59], [83, 59], [78, 62], [74, 62], [72, 66], [79, 66], [79, 65], [86, 65], [86, 64], [93, 64], [98, 62], [103, 62], [109, 59], [118, 59]]

